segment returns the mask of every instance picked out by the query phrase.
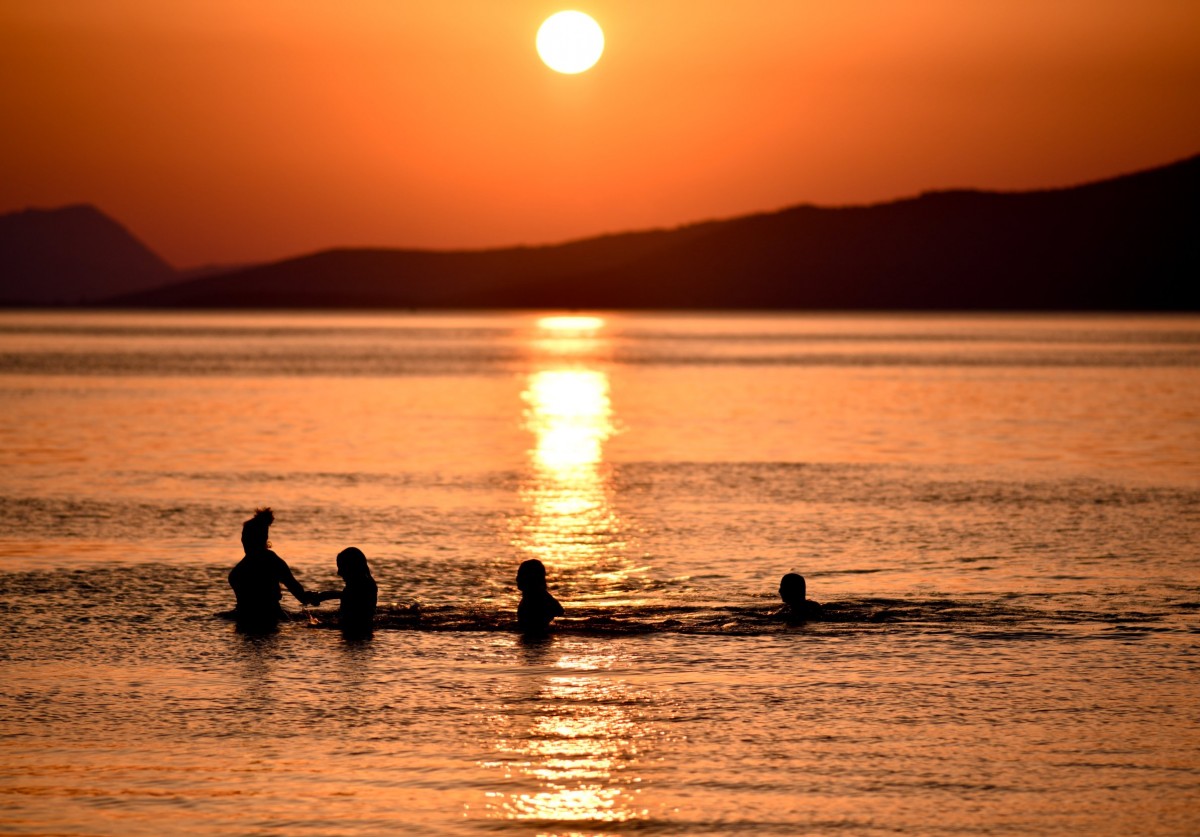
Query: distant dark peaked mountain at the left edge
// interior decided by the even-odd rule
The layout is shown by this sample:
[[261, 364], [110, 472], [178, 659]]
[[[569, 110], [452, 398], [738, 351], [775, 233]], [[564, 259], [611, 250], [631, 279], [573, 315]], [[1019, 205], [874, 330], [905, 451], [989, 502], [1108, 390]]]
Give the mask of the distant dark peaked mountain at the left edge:
[[170, 265], [95, 206], [0, 216], [0, 303], [76, 305], [178, 279]]

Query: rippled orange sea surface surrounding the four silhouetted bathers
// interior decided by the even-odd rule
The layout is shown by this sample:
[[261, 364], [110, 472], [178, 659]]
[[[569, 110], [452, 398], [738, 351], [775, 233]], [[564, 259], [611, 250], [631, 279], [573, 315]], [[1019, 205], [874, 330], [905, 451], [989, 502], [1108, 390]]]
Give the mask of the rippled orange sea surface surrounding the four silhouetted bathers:
[[[1200, 831], [1200, 318], [7, 312], [0, 410], [6, 833]], [[372, 638], [220, 615], [264, 505]]]

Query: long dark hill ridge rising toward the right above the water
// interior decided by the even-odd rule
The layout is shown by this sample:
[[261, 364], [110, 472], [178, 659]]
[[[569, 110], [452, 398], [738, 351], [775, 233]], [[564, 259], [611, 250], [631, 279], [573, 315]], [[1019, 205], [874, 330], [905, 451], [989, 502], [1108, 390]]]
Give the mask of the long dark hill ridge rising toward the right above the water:
[[1200, 156], [1036, 192], [794, 206], [481, 251], [329, 249], [128, 291], [151, 308], [1195, 311]]

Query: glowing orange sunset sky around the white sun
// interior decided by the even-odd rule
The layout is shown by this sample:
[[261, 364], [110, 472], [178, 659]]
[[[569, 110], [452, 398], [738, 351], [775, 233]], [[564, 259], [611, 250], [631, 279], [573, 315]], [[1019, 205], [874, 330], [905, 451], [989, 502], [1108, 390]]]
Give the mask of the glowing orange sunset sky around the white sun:
[[178, 266], [542, 243], [1194, 155], [1200, 2], [0, 0], [0, 212]]

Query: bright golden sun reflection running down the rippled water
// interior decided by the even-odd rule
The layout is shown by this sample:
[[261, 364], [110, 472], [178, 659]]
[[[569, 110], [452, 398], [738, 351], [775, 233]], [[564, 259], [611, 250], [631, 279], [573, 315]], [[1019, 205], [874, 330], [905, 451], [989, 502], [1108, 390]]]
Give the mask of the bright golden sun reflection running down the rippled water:
[[[607, 350], [604, 327], [598, 317], [547, 317], [530, 341], [534, 371], [521, 397], [533, 445], [512, 543], [546, 564], [552, 589], [570, 573], [618, 589], [631, 571], [604, 457], [617, 432], [608, 374], [595, 362]], [[582, 597], [571, 595], [568, 615]], [[487, 794], [487, 814], [578, 827], [643, 819], [632, 769], [647, 730], [630, 710], [636, 696], [607, 673], [614, 652], [563, 648], [528, 643], [516, 693], [491, 718], [496, 760], [485, 766], [503, 770], [505, 789]]]

